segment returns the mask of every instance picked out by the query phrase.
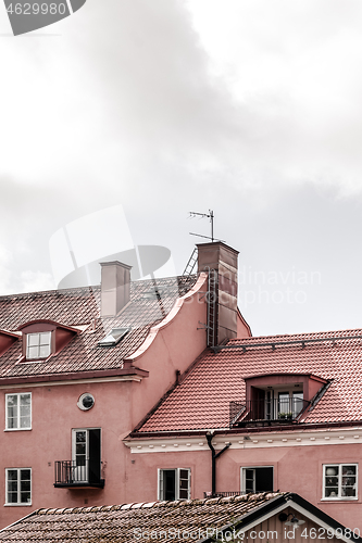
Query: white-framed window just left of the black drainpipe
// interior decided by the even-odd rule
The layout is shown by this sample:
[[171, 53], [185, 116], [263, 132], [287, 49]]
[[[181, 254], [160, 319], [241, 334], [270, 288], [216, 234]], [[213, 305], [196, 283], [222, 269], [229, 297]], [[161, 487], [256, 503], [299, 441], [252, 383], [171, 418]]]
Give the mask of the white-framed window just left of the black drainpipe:
[[190, 469], [159, 469], [159, 500], [189, 500], [190, 479]]

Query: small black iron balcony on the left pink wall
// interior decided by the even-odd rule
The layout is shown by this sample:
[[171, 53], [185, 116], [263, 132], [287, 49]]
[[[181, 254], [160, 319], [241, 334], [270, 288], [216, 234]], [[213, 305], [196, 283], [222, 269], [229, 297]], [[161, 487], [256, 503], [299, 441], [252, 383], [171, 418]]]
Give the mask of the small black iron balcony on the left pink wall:
[[84, 460], [82, 465], [77, 465], [75, 460], [57, 460], [55, 482], [57, 489], [82, 489], [93, 488], [102, 489], [104, 479], [100, 478], [100, 463]]

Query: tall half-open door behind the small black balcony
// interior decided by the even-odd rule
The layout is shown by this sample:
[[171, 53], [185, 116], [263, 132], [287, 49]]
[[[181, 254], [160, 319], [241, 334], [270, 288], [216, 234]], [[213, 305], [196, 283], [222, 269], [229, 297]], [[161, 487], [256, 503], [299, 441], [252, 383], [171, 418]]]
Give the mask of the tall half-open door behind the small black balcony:
[[72, 430], [72, 479], [74, 482], [99, 482], [101, 476], [100, 468], [100, 428]]

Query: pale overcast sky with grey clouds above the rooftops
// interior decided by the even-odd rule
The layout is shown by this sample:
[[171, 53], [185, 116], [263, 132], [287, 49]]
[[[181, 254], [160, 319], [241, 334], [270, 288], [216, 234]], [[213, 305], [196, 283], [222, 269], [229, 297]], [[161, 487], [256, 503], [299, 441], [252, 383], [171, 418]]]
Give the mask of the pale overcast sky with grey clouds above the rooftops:
[[362, 328], [360, 0], [87, 0], [16, 38], [0, 7], [0, 294], [114, 205], [180, 274], [213, 210], [253, 334]]

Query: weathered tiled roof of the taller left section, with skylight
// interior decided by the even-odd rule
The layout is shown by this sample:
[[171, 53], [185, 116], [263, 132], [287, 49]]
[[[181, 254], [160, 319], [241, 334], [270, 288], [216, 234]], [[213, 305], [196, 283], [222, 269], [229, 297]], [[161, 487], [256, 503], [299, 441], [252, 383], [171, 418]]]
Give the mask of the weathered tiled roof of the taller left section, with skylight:
[[[123, 359], [145, 341], [149, 329], [172, 310], [176, 299], [195, 283], [196, 276], [157, 279], [161, 301], [149, 298], [152, 280], [130, 283], [130, 302], [116, 317], [100, 317], [100, 287], [86, 287], [30, 294], [0, 296], [0, 329], [15, 331], [36, 319], [85, 327], [60, 353], [39, 362], [20, 362], [22, 342], [0, 356], [1, 379], [123, 368]], [[95, 330], [92, 329], [95, 325]], [[130, 327], [115, 346], [98, 346], [112, 328]]]

